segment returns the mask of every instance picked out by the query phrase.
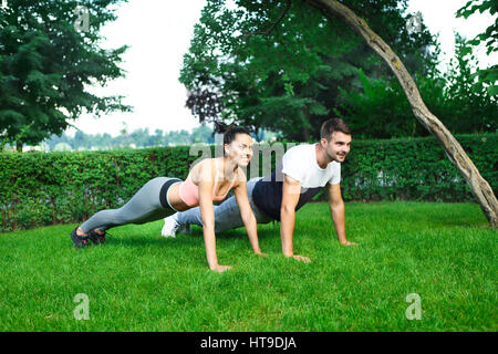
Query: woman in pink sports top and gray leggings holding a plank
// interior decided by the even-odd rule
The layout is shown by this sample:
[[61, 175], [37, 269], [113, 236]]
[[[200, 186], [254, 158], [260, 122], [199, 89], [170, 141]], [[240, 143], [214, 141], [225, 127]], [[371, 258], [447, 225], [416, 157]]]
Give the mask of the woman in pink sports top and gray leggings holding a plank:
[[224, 136], [224, 157], [200, 162], [193, 167], [185, 181], [169, 177], [149, 180], [122, 208], [98, 211], [76, 227], [71, 232], [71, 239], [76, 248], [89, 246], [89, 240], [103, 243], [105, 230], [112, 227], [155, 221], [175, 211], [199, 206], [209, 268], [217, 272], [231, 269], [218, 264], [216, 257], [212, 201], [225, 199], [234, 189], [252, 250], [256, 254], [262, 254], [256, 218], [247, 196], [246, 175], [240, 168], [247, 166], [251, 157], [252, 138], [249, 133], [245, 128], [230, 129]]

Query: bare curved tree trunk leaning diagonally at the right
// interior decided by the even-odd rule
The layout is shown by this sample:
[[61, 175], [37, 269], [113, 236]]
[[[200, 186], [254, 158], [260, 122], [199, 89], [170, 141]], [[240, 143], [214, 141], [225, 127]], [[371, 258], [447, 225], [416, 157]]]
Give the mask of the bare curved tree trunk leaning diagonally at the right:
[[477, 170], [474, 163], [467, 156], [461, 148], [460, 144], [449, 133], [449, 131], [443, 125], [443, 123], [432, 114], [425, 103], [422, 101], [415, 82], [402, 63], [400, 58], [393, 52], [393, 50], [376, 34], [374, 33], [366, 22], [359, 18], [347, 7], [343, 6], [335, 0], [305, 0], [311, 6], [329, 11], [330, 13], [341, 18], [354, 32], [363, 37], [366, 43], [390, 65], [391, 70], [396, 75], [400, 84], [405, 92], [408, 102], [412, 106], [412, 111], [418, 122], [422, 123], [433, 134], [446, 150], [446, 155], [449, 160], [461, 173], [474, 197], [477, 199], [480, 208], [483, 209], [486, 218], [491, 227], [497, 227], [498, 215], [498, 201], [492, 192], [489, 184], [484, 179]]

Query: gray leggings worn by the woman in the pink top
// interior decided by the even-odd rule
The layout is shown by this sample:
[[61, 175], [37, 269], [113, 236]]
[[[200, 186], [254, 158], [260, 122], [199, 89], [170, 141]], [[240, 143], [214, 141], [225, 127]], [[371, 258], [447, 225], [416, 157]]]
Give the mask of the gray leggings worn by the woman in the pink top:
[[180, 181], [180, 179], [169, 177], [151, 179], [123, 207], [96, 212], [82, 223], [81, 229], [85, 233], [93, 229], [105, 231], [116, 226], [145, 223], [170, 216], [175, 210], [163, 206], [165, 196], [163, 196], [162, 202], [160, 194], [167, 194], [167, 189], [163, 188], [165, 183], [176, 180]]

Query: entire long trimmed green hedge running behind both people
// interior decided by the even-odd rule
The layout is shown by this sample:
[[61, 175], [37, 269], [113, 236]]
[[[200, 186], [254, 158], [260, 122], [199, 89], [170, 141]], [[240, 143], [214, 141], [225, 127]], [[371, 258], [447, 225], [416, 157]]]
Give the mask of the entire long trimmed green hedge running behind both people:
[[[498, 134], [457, 139], [496, 190]], [[0, 231], [79, 222], [123, 205], [153, 177], [185, 179], [200, 156], [190, 156], [189, 150], [181, 146], [0, 153]], [[353, 139], [342, 168], [342, 191], [344, 200], [473, 200], [467, 184], [433, 137]]]

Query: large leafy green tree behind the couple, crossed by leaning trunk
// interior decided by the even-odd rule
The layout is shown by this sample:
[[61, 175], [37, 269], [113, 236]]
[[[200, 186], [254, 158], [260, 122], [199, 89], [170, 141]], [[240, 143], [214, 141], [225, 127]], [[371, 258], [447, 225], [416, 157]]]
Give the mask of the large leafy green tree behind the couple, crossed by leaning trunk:
[[[433, 60], [424, 24], [408, 33], [406, 1], [351, 1], [372, 19], [414, 70]], [[187, 106], [217, 129], [231, 124], [317, 138], [324, 118], [341, 110], [340, 91], [357, 88], [357, 67], [371, 77], [393, 76], [341, 21], [328, 21], [302, 1], [209, 0], [194, 30], [180, 73]], [[390, 23], [388, 27], [384, 23]]]

